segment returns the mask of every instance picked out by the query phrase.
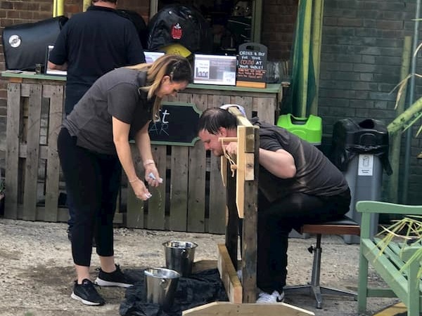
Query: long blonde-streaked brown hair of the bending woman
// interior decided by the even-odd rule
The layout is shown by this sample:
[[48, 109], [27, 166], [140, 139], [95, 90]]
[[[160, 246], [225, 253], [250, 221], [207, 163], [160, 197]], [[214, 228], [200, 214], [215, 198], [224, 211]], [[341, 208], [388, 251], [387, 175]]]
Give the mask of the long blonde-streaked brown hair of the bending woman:
[[[161, 80], [169, 76], [174, 82], [192, 82], [192, 67], [189, 61], [181, 55], [166, 54], [154, 62], [128, 66], [129, 69], [146, 71], [146, 86], [139, 89], [148, 92], [148, 99], [153, 98], [161, 86]], [[161, 98], [155, 98], [153, 107], [154, 117], [158, 116], [161, 108]]]

